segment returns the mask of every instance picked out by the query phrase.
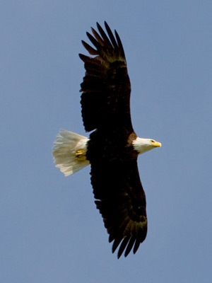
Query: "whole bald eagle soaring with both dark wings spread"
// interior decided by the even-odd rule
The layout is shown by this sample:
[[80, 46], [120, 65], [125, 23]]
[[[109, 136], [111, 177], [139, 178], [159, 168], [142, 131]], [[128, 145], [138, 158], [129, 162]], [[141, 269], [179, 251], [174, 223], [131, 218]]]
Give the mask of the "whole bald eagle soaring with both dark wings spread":
[[105, 22], [107, 34], [97, 23], [98, 32], [87, 33], [94, 47], [82, 41], [91, 57], [79, 54], [86, 69], [81, 83], [81, 108], [90, 137], [61, 129], [54, 141], [56, 167], [68, 176], [91, 166], [91, 184], [96, 207], [113, 241], [112, 253], [127, 256], [146, 238], [146, 197], [137, 158], [161, 146], [153, 139], [136, 135], [131, 124], [131, 85], [122, 42]]

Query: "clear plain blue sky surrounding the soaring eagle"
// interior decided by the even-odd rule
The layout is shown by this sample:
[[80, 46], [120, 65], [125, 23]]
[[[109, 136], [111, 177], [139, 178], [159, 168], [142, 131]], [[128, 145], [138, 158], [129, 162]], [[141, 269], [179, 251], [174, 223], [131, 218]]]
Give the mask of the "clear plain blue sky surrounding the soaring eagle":
[[[212, 278], [212, 1], [1, 0], [0, 282], [209, 283]], [[59, 129], [83, 129], [86, 31], [117, 29], [140, 137], [148, 236], [117, 260], [90, 168], [65, 178]]]

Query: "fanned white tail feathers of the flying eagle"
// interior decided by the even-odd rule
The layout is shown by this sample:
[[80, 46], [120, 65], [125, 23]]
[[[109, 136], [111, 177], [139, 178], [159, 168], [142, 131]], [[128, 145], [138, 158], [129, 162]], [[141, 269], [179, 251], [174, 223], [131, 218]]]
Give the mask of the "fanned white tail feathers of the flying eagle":
[[78, 156], [77, 152], [86, 153], [88, 138], [80, 134], [61, 129], [54, 141], [53, 156], [56, 167], [65, 176], [69, 176], [89, 165], [85, 154]]

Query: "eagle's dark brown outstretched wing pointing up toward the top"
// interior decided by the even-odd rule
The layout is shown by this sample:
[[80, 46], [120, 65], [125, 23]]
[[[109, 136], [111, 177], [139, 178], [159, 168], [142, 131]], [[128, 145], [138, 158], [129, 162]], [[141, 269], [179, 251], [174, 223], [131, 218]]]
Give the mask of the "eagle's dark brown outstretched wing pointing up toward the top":
[[107, 34], [97, 23], [98, 32], [87, 33], [95, 49], [83, 42], [94, 57], [79, 54], [85, 63], [86, 76], [81, 83], [83, 124], [87, 132], [117, 125], [131, 128], [131, 86], [126, 68], [122, 42], [117, 31], [114, 35], [105, 22]]

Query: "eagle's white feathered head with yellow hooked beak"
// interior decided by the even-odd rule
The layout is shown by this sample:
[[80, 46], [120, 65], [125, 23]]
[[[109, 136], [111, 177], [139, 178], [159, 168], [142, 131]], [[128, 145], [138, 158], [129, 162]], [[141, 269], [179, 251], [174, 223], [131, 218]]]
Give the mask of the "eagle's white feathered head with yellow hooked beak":
[[150, 151], [151, 149], [155, 149], [155, 147], [160, 147], [159, 141], [155, 141], [154, 139], [143, 139], [141, 137], [137, 137], [132, 142], [134, 149], [139, 152], [139, 154], [144, 154], [146, 151]]

